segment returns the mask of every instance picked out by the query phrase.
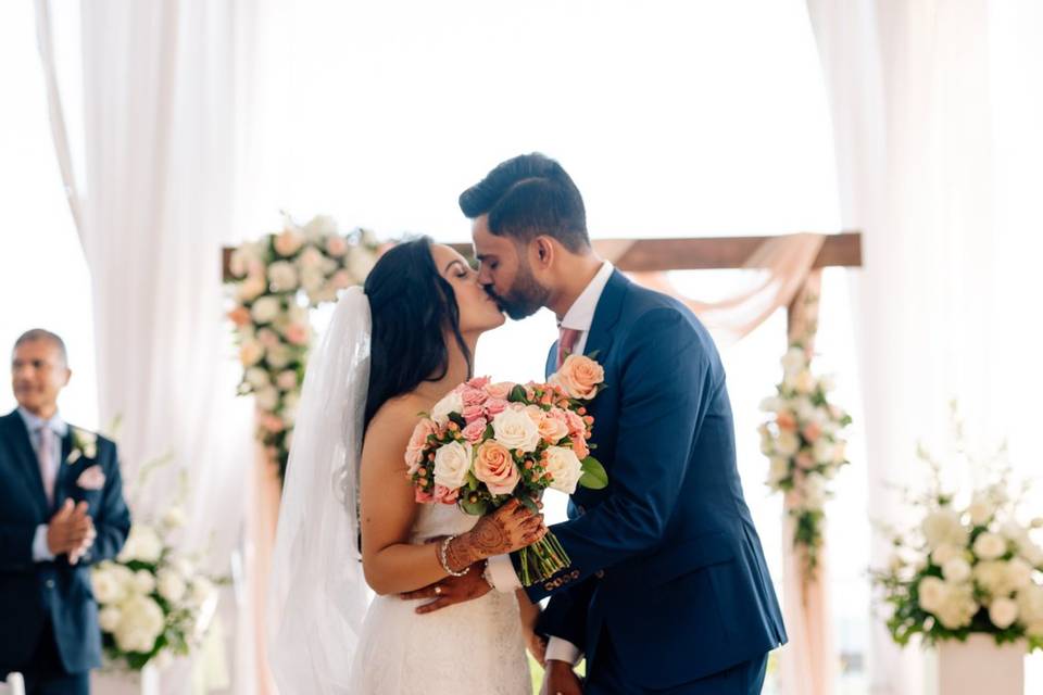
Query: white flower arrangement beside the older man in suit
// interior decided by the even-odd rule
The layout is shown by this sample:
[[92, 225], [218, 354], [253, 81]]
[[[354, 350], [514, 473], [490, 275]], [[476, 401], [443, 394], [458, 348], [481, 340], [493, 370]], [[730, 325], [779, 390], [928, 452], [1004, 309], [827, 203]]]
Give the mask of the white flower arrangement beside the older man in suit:
[[[168, 460], [142, 466], [138, 485]], [[202, 554], [184, 553], [175, 543], [188, 520], [184, 471], [179, 488], [154, 518], [131, 525], [114, 560], [91, 568], [102, 647], [117, 670], [140, 671], [148, 665], [162, 669], [175, 656], [187, 656], [202, 645], [217, 608], [216, 586], [226, 580], [200, 571]]]

